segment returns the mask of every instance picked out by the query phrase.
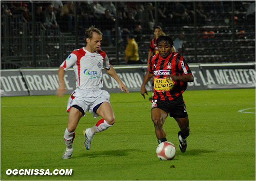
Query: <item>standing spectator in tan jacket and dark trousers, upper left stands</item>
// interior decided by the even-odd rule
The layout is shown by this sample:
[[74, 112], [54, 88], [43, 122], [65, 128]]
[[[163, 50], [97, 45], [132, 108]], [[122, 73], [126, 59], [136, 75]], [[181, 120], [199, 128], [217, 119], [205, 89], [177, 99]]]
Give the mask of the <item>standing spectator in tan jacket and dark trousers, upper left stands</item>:
[[74, 2], [68, 1], [65, 5], [63, 5], [61, 13], [60, 13], [60, 21], [61, 21], [61, 29], [64, 31], [72, 31], [73, 30], [73, 19], [75, 17], [75, 8]]

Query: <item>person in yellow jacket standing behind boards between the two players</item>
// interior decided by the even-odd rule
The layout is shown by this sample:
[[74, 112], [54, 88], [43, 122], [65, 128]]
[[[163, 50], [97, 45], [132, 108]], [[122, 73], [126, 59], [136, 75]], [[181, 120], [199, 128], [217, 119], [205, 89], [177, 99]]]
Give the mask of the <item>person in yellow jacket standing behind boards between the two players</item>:
[[139, 61], [139, 47], [136, 43], [134, 36], [132, 34], [128, 34], [126, 37], [128, 42], [125, 48], [125, 63], [126, 64], [138, 64]]

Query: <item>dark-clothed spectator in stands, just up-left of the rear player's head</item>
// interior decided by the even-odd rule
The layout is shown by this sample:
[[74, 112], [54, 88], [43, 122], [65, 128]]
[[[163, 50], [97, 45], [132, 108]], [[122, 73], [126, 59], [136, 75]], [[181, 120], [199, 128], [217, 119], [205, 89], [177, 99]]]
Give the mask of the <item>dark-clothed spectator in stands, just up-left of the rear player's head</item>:
[[154, 30], [155, 26], [155, 19], [153, 15], [154, 7], [152, 3], [146, 2], [145, 10], [142, 12], [142, 29], [145, 32], [151, 32]]

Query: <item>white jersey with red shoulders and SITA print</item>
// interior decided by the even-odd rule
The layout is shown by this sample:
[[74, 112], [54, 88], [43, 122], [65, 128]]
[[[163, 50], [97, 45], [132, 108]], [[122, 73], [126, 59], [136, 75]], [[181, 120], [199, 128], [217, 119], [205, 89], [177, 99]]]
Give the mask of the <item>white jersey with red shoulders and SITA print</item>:
[[98, 50], [94, 53], [80, 48], [74, 50], [60, 65], [65, 71], [74, 68], [76, 87], [79, 89], [101, 89], [102, 67], [109, 69], [110, 62], [106, 53]]

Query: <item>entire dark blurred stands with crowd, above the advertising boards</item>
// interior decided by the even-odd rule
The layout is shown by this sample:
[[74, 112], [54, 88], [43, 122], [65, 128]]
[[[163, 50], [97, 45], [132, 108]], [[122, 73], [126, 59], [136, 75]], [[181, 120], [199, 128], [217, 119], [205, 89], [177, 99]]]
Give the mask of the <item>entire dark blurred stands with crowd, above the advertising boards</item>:
[[127, 35], [146, 64], [154, 28], [180, 39], [188, 63], [255, 62], [255, 1], [1, 1], [1, 69], [59, 67], [104, 33], [112, 65], [125, 64]]

